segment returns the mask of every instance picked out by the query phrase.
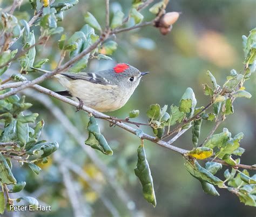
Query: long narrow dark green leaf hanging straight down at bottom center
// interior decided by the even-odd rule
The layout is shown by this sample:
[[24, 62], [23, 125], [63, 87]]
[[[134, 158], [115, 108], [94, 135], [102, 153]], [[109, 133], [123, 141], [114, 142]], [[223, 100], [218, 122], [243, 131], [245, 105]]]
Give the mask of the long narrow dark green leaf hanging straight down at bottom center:
[[142, 184], [144, 198], [155, 207], [157, 201], [154, 194], [153, 179], [143, 145], [138, 147], [138, 162], [136, 168], [134, 168], [134, 173], [139, 178], [140, 184]]

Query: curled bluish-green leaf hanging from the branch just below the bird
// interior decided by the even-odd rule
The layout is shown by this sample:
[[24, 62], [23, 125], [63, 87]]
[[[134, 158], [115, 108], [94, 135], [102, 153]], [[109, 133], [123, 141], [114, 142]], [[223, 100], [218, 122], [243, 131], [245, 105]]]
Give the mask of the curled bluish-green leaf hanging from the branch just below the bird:
[[106, 155], [112, 155], [113, 151], [107, 144], [106, 139], [100, 133], [99, 126], [95, 117], [91, 116], [90, 121], [87, 126], [87, 130], [89, 131], [89, 138], [85, 141], [85, 145], [89, 145], [92, 148], [95, 148]]

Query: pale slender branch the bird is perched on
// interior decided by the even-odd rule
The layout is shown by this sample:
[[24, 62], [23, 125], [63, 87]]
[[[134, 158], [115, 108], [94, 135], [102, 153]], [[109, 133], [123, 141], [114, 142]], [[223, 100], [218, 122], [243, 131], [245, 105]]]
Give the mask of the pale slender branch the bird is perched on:
[[[68, 98], [66, 98], [66, 97], [60, 96], [59, 94], [57, 94], [57, 93], [55, 93], [55, 92], [53, 92], [53, 91], [51, 91], [51, 90], [48, 90], [48, 89], [46, 89], [46, 88], [44, 88], [44, 87], [42, 87], [42, 86], [33, 85], [33, 88], [35, 88], [35, 89], [38, 90], [39, 92], [48, 94], [48, 95], [50, 95], [50, 96], [52, 96], [52, 97], [55, 97], [55, 98], [57, 98], [57, 99], [59, 99], [59, 100], [62, 100], [62, 101], [64, 101], [65, 103], [68, 103], [68, 104], [73, 105], [73, 106], [75, 106], [75, 107], [77, 107], [77, 106], [79, 105], [78, 102], [73, 101], [73, 100], [71, 100], [71, 99], [68, 99]], [[126, 131], [128, 131], [128, 132], [130, 132], [130, 133], [132, 133], [132, 134], [134, 134], [134, 135], [136, 135], [136, 133], [137, 133], [137, 130], [136, 130], [135, 128], [133, 128], [133, 127], [131, 127], [131, 126], [128, 126], [128, 125], [126, 125], [126, 124], [124, 124], [124, 123], [119, 123], [119, 122], [117, 122], [117, 121], [113, 121], [113, 120], [111, 120], [111, 117], [106, 116], [106, 114], [103, 114], [103, 113], [98, 112], [98, 111], [96, 111], [96, 110], [93, 110], [93, 109], [90, 108], [90, 107], [87, 107], [87, 106], [84, 105], [83, 108], [82, 108], [82, 110], [84, 110], [84, 111], [86, 111], [86, 112], [88, 112], [88, 113], [91, 113], [93, 116], [95, 116], [95, 117], [97, 117], [97, 118], [98, 118], [98, 117], [103, 117], [103, 119], [108, 118], [108, 119], [106, 119], [106, 120], [109, 121], [110, 123], [115, 124], [116, 126], [119, 126], [120, 128], [123, 128], [124, 130], [126, 130]], [[180, 135], [179, 135], [179, 136], [180, 136]], [[140, 138], [141, 138], [141, 139], [145, 139], [145, 140], [152, 141], [153, 143], [156, 143], [156, 144], [159, 145], [159, 146], [168, 148], [168, 149], [170, 149], [170, 150], [172, 150], [172, 151], [174, 151], [174, 152], [177, 152], [177, 153], [179, 153], [179, 154], [182, 154], [182, 155], [188, 152], [188, 150], [185, 150], [185, 149], [183, 149], [183, 148], [179, 148], [179, 147], [170, 145], [170, 144], [167, 143], [166, 141], [158, 140], [156, 137], [152, 137], [151, 135], [148, 135], [148, 134], [146, 134], [146, 133], [143, 133], [142, 137], [140, 137]], [[176, 137], [175, 139], [177, 139], [177, 137]], [[215, 162], [221, 162], [221, 163], [223, 162], [223, 164], [226, 165], [226, 162], [223, 161], [223, 160], [220, 160], [220, 159], [214, 159], [213, 161], [215, 161]], [[245, 168], [244, 165], [240, 165], [240, 167], [241, 167], [241, 168]], [[254, 166], [246, 165], [246, 168], [247, 168], [247, 169], [256, 170], [256, 167], [254, 167]]]

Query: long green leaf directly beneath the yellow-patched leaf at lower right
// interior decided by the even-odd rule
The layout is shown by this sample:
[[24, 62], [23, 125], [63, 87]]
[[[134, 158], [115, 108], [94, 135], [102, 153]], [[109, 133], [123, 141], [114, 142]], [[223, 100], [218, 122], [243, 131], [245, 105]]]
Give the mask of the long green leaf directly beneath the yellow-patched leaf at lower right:
[[223, 186], [223, 181], [221, 181], [218, 177], [214, 177], [214, 175], [207, 171], [207, 169], [201, 167], [197, 161], [186, 161], [185, 168], [193, 177], [199, 179], [200, 181], [206, 181], [210, 184], [217, 185], [218, 187]]

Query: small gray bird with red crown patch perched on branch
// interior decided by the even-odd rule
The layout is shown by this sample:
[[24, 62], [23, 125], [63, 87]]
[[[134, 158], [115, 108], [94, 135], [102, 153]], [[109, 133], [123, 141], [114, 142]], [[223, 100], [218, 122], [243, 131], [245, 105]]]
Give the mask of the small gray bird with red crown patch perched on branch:
[[78, 110], [84, 104], [100, 112], [115, 111], [126, 104], [140, 78], [147, 73], [125, 63], [96, 73], [60, 73], [55, 77], [66, 90], [57, 93], [76, 97], [79, 100]]

